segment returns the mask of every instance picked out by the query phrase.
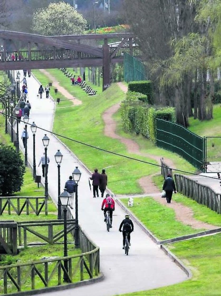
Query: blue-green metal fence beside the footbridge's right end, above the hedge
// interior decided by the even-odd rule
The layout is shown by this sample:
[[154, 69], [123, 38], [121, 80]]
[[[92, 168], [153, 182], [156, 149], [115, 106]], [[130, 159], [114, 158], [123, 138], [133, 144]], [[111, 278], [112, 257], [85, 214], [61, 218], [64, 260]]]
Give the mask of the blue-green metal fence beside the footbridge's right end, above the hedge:
[[124, 53], [124, 81], [147, 80], [144, 63], [139, 59]]

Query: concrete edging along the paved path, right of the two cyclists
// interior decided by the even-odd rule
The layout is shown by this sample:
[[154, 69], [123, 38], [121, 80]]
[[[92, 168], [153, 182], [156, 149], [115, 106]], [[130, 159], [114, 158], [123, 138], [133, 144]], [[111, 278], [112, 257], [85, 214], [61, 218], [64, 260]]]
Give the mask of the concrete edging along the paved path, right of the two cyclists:
[[[159, 244], [159, 240], [157, 239], [157, 237], [155, 237], [152, 232], [150, 230], [148, 230], [144, 224], [138, 220], [138, 218], [130, 211], [128, 210], [124, 204], [116, 199], [117, 204], [126, 211], [126, 213], [128, 213], [131, 217], [133, 217], [134, 221], [143, 229], [143, 231], [156, 243]], [[190, 271], [189, 268], [187, 268], [181, 260], [179, 260], [172, 252], [170, 252], [164, 245], [160, 245], [160, 249], [163, 250], [163, 252], [174, 262], [176, 263], [177, 266], [179, 266], [184, 272], [185, 274], [188, 276], [188, 279], [191, 279], [192, 277], [192, 273]]]

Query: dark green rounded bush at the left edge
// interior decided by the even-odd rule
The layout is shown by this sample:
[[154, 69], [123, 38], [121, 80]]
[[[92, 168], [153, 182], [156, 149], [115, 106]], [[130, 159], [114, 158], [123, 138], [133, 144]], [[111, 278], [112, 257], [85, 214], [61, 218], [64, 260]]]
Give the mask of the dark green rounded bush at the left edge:
[[4, 196], [20, 191], [24, 173], [21, 155], [12, 147], [0, 144], [0, 194]]

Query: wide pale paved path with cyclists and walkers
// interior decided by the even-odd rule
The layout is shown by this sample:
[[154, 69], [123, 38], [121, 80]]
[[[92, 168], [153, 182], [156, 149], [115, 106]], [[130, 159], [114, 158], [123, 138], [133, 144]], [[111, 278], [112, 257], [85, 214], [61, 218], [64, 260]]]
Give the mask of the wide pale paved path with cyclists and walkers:
[[[28, 99], [32, 104], [30, 122], [35, 121], [37, 126], [51, 129], [55, 103], [51, 99], [45, 99], [45, 96], [43, 99], [37, 98], [36, 93], [39, 85], [33, 77], [27, 78], [27, 83], [29, 88]], [[20, 135], [22, 129], [23, 124], [20, 124]], [[30, 128], [28, 128], [28, 132], [28, 161], [32, 164], [32, 133]], [[40, 130], [36, 133], [37, 164], [43, 153], [41, 140], [43, 134], [44, 132]], [[89, 175], [87, 170], [53, 135], [48, 134], [48, 136], [50, 138], [48, 156], [51, 160], [48, 169], [49, 194], [57, 201], [57, 166], [54, 155], [57, 149], [60, 149], [64, 155], [61, 163], [61, 189], [76, 165], [79, 166], [82, 172], [79, 183], [79, 223], [100, 247], [101, 271], [104, 273], [105, 279], [89, 286], [68, 289], [62, 292], [50, 292], [45, 295], [111, 296], [153, 289], [186, 280], [186, 274], [136, 224], [135, 231], [131, 235], [132, 245], [129, 256], [124, 255], [121, 248], [122, 234], [118, 231], [119, 224], [125, 215], [124, 211], [116, 206], [113, 216], [113, 228], [108, 233], [103, 222], [103, 212], [100, 210], [102, 199], [92, 198], [88, 186]], [[40, 168], [37, 168], [37, 174], [41, 174]]]

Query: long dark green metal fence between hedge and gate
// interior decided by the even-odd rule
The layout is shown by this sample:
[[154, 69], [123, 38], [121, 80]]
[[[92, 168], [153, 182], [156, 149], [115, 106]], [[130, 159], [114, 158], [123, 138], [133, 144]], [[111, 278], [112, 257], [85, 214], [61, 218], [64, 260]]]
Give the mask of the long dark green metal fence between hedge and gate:
[[204, 171], [204, 138], [176, 123], [156, 119], [156, 140], [158, 147], [178, 153], [196, 168]]

